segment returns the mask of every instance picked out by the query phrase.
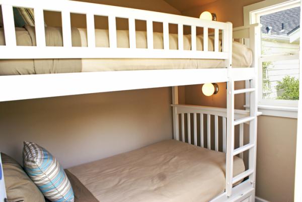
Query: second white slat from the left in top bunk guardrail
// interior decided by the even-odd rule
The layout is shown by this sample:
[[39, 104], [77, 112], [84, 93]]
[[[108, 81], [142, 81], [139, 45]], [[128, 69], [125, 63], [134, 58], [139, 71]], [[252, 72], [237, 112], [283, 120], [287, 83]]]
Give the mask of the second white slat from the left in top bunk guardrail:
[[[38, 47], [45, 47], [46, 42], [45, 42], [45, 27], [44, 27], [44, 13], [43, 9], [34, 9], [34, 18], [35, 18], [35, 32], [36, 32], [36, 44]], [[62, 18], [63, 20], [63, 18]], [[63, 26], [63, 21], [62, 21], [62, 26]], [[69, 29], [71, 29], [69, 27]], [[64, 36], [64, 33], [63, 33]], [[63, 41], [63, 45], [64, 41]]]

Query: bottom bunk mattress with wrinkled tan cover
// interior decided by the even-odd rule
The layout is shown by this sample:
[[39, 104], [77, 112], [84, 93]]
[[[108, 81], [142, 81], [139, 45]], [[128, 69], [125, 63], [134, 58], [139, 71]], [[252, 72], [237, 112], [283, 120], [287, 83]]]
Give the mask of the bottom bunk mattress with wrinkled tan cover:
[[[244, 170], [234, 157], [234, 175]], [[99, 201], [209, 201], [225, 189], [225, 153], [168, 140], [66, 172]]]

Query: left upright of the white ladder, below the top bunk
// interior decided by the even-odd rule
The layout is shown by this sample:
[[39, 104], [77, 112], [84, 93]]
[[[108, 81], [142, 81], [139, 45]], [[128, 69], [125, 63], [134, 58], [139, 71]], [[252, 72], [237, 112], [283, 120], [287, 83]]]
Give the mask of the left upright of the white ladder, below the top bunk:
[[234, 163], [234, 81], [230, 78], [226, 90], [226, 166], [225, 166], [225, 192], [232, 195], [233, 163]]

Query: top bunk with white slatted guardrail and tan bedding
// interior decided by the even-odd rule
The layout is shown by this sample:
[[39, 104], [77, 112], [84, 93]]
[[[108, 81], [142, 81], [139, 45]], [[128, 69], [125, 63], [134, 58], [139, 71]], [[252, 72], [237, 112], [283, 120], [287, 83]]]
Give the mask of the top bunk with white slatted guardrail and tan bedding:
[[[258, 25], [233, 29], [231, 23], [67, 0], [0, 0], [0, 5], [4, 24], [0, 28], [0, 85], [7, 86], [0, 90], [0, 101], [255, 77]], [[15, 28], [14, 7], [33, 9], [35, 27]], [[61, 13], [61, 31], [45, 27], [43, 11]], [[71, 13], [86, 15], [87, 29], [71, 28]], [[108, 30], [95, 28], [95, 16], [108, 17]], [[127, 19], [129, 29], [117, 30], [116, 18]], [[145, 21], [146, 30], [136, 31], [135, 20]], [[163, 33], [154, 32], [153, 22], [163, 24]], [[171, 24], [177, 26], [177, 33], [169, 32]], [[184, 26], [190, 27], [190, 34]], [[24, 43], [24, 33], [31, 43]], [[49, 38], [54, 35], [59, 40]], [[233, 39], [249, 40], [250, 49]], [[232, 59], [238, 68], [233, 68]], [[55, 64], [49, 60], [60, 61], [57, 67], [65, 65], [64, 70], [45, 71], [47, 65]], [[14, 69], [16, 64], [21, 69]], [[30, 75], [40, 73], [36, 69], [23, 73], [23, 66], [38, 65], [43, 74]], [[66, 70], [70, 66], [80, 70]], [[56, 72], [60, 74], [51, 74]]]

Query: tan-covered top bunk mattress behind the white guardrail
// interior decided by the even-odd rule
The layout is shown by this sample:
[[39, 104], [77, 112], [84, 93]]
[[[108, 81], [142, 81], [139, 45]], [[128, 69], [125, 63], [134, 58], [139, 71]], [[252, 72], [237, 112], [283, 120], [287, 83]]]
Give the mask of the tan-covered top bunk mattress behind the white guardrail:
[[[71, 29], [72, 46], [87, 46], [86, 29]], [[96, 29], [96, 46], [109, 47], [108, 30]], [[46, 46], [62, 46], [61, 28], [45, 27]], [[35, 46], [35, 29], [31, 26], [16, 28], [17, 45]], [[154, 33], [154, 48], [163, 49], [163, 34]], [[184, 50], [191, 49], [191, 36], [184, 35]], [[203, 36], [196, 37], [196, 48], [202, 50]], [[5, 45], [4, 30], [0, 28], [0, 45]], [[178, 35], [169, 35], [170, 49], [178, 49]], [[128, 30], [117, 30], [117, 47], [129, 48]], [[136, 31], [136, 47], [147, 48], [144, 31]], [[209, 37], [208, 50], [213, 51], [214, 40]], [[219, 44], [221, 51], [221, 43]], [[101, 53], [100, 53], [101, 54]], [[135, 56], [134, 56], [135, 57]], [[233, 42], [233, 67], [250, 67], [252, 51], [245, 45]], [[217, 59], [16, 59], [0, 60], [0, 75], [71, 73], [116, 70], [151, 69], [200, 69], [223, 68], [223, 60]]]

